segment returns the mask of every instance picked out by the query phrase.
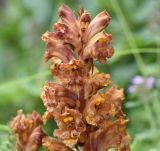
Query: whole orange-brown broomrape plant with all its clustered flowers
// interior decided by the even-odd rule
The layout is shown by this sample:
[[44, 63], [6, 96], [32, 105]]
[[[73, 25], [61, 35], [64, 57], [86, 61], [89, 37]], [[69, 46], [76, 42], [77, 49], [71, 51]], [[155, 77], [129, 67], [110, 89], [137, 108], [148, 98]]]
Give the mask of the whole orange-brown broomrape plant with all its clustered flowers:
[[[19, 111], [11, 121], [17, 151], [37, 151], [41, 146], [48, 151], [130, 151], [127, 119], [121, 109], [123, 90], [93, 65], [95, 59], [106, 63], [114, 53], [109, 46], [112, 35], [104, 31], [110, 16], [103, 11], [91, 20], [81, 9], [76, 18], [62, 5], [59, 17], [54, 32], [42, 36], [45, 61], [51, 60], [51, 73], [58, 82], [46, 82], [43, 87], [46, 112], [42, 117]], [[105, 87], [105, 93], [99, 91]], [[55, 138], [42, 130], [49, 119], [57, 122]]]

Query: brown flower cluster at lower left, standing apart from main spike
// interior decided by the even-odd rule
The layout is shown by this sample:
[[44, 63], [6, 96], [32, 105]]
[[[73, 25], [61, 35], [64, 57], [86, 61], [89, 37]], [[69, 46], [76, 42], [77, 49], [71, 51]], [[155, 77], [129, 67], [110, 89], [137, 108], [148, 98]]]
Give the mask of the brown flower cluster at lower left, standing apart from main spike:
[[37, 112], [25, 116], [22, 111], [13, 118], [10, 127], [16, 137], [17, 151], [38, 151], [45, 134], [42, 131], [42, 119]]

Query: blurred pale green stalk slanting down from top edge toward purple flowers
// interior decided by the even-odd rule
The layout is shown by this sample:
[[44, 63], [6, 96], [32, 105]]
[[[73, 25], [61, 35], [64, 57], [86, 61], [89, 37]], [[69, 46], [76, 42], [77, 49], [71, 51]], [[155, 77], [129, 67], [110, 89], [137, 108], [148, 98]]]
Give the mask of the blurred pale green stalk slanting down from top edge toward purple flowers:
[[138, 49], [136, 49], [137, 48], [137, 44], [135, 42], [135, 39], [134, 39], [134, 37], [132, 35], [131, 30], [129, 29], [129, 27], [127, 25], [127, 22], [125, 20], [125, 16], [124, 16], [124, 14], [123, 14], [123, 12], [122, 12], [117, 0], [110, 0], [110, 2], [112, 4], [113, 10], [117, 14], [119, 22], [120, 22], [120, 24], [122, 26], [122, 30], [123, 30], [123, 32], [124, 32], [124, 34], [126, 36], [128, 44], [130, 45], [131, 51], [132, 51], [132, 53], [134, 55], [134, 58], [135, 58], [136, 63], [138, 65], [138, 67], [139, 67], [139, 70], [143, 75], [146, 75], [145, 65], [144, 65], [143, 59], [139, 55]]

